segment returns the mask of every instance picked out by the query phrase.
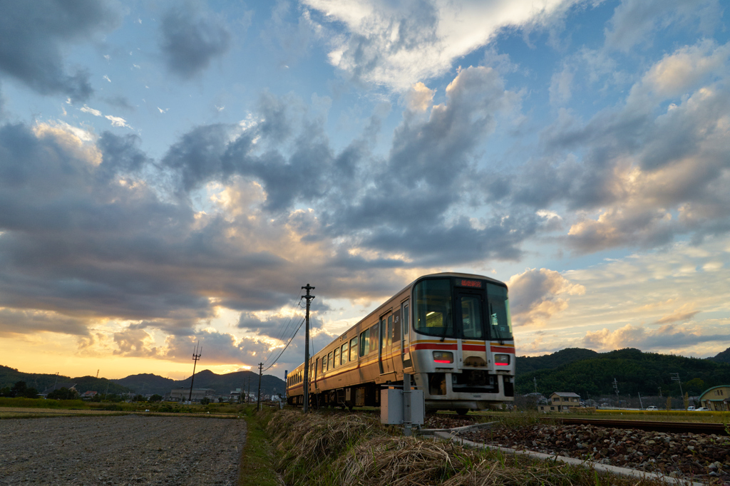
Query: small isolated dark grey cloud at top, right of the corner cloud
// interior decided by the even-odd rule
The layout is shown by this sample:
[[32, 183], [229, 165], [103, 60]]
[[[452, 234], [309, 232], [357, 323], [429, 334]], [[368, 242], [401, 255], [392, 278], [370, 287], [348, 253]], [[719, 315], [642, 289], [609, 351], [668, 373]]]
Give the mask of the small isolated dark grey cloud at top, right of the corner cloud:
[[166, 12], [161, 34], [167, 68], [186, 80], [207, 69], [210, 61], [225, 54], [231, 45], [226, 23], [191, 1]]

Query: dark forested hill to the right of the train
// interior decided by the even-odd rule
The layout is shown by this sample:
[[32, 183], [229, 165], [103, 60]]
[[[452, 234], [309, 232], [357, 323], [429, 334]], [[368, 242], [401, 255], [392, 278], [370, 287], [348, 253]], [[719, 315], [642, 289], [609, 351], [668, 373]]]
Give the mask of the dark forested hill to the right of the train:
[[[548, 360], [542, 363], [548, 363]], [[534, 378], [537, 379], [540, 393], [572, 391], [585, 397], [586, 394], [610, 395], [614, 392], [615, 378], [622, 395], [657, 395], [661, 388], [664, 394], [677, 396], [680, 394], [680, 385], [672, 381], [672, 373], [680, 374], [683, 391], [690, 395], [699, 395], [709, 387], [730, 383], [728, 363], [660, 355], [631, 348], [596, 353], [593, 358], [574, 360], [553, 369], [520, 373], [515, 382], [520, 394], [534, 391]]]

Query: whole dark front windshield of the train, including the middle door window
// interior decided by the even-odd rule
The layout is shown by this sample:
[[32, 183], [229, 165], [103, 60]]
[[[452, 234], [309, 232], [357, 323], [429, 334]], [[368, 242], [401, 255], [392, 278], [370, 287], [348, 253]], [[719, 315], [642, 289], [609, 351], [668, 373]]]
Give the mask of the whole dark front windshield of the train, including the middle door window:
[[[425, 279], [416, 284], [415, 331], [462, 339], [512, 339], [507, 288], [485, 280]], [[478, 287], [476, 287], [478, 285]]]

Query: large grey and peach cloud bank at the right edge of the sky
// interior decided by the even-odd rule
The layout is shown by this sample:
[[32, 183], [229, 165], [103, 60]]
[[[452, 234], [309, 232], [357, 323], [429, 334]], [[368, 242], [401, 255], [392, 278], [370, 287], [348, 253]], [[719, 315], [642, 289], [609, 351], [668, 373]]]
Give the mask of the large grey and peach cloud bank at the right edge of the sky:
[[730, 230], [729, 45], [702, 41], [649, 66], [626, 101], [582, 122], [566, 109], [518, 169], [507, 201], [572, 217], [578, 253], [653, 248]]

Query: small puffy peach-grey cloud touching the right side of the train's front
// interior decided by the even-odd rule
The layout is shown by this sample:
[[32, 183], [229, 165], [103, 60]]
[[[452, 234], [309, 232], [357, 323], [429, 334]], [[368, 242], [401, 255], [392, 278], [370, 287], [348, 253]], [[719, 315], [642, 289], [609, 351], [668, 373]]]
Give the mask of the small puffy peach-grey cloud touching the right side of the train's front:
[[512, 323], [520, 325], [545, 325], [568, 307], [568, 299], [558, 296], [580, 296], [585, 287], [574, 284], [557, 271], [528, 269], [512, 275], [507, 281], [510, 289]]

